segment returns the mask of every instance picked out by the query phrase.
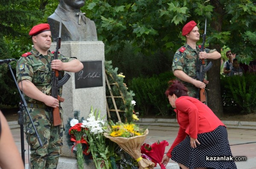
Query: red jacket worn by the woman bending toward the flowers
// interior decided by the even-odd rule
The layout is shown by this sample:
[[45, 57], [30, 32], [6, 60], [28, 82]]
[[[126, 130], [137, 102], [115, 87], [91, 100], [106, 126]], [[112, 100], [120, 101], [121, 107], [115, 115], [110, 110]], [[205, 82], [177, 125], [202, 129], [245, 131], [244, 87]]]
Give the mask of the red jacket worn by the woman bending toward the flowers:
[[198, 134], [212, 132], [218, 126], [225, 126], [212, 110], [198, 99], [189, 96], [181, 96], [175, 101], [177, 122], [180, 125], [178, 135], [167, 156], [171, 158], [172, 149], [190, 135], [197, 138]]

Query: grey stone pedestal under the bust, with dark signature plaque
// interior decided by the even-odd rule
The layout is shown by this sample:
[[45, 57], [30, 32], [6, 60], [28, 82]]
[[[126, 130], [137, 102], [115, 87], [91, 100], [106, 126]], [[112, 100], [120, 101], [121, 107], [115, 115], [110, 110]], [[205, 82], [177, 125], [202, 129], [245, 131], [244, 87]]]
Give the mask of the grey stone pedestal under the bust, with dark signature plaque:
[[[56, 42], [52, 43], [51, 51], [55, 51]], [[67, 124], [68, 118], [73, 118], [73, 112], [75, 110], [80, 111], [79, 118], [88, 117], [90, 113], [90, 107], [93, 106], [93, 110], [100, 110], [101, 116], [107, 115], [106, 112], [106, 91], [105, 91], [105, 55], [104, 55], [104, 43], [102, 41], [84, 41], [84, 42], [61, 42], [61, 48], [59, 52], [64, 56], [76, 57], [81, 62], [90, 65], [97, 61], [98, 66], [101, 63], [102, 70], [98, 72], [85, 73], [85, 69], [78, 73], [69, 73], [71, 75], [68, 82], [63, 86], [62, 97], [65, 99], [61, 106], [64, 110], [64, 126]], [[66, 72], [67, 73], [67, 72]], [[82, 74], [82, 76], [81, 76]], [[97, 87], [81, 87], [84, 79], [98, 79], [101, 81], [102, 85], [97, 85]], [[93, 79], [93, 80], [95, 80]], [[81, 82], [82, 80], [82, 82]], [[77, 82], [81, 83], [78, 87]], [[93, 81], [90, 81], [93, 86]], [[74, 157], [71, 153], [71, 148], [67, 146], [67, 137], [64, 134], [63, 137], [63, 148], [61, 156]], [[63, 163], [62, 161], [61, 163]], [[61, 166], [65, 166], [60, 164]], [[62, 167], [61, 167], [62, 168]]]

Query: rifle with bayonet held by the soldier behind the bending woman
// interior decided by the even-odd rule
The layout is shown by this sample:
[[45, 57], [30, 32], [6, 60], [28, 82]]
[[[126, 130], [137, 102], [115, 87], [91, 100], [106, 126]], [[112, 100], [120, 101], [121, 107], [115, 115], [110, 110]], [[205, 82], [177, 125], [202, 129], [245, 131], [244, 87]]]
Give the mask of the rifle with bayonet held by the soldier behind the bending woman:
[[[207, 19], [205, 19], [205, 27], [204, 27], [204, 34], [202, 34], [203, 37], [203, 42], [200, 48], [200, 51], [204, 51], [204, 43], [205, 43], [205, 39], [206, 39], [206, 25], [207, 25]], [[204, 79], [205, 77], [205, 73], [212, 68], [212, 62], [209, 62], [209, 64], [206, 66], [204, 59], [199, 59], [199, 72], [197, 72], [197, 79], [201, 82], [204, 82], [206, 85], [209, 83], [209, 81], [207, 81], [206, 79]], [[203, 103], [206, 103], [206, 93], [205, 93], [205, 89], [199, 89], [199, 100]]]

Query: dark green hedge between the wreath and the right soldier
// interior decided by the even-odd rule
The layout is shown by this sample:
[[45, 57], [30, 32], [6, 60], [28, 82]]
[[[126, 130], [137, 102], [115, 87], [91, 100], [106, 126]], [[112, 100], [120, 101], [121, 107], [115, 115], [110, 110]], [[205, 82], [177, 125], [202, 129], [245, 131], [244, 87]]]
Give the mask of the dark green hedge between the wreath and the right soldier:
[[170, 110], [168, 108], [169, 101], [164, 93], [171, 79], [175, 79], [171, 71], [150, 78], [134, 78], [131, 82], [131, 88], [135, 93], [139, 110], [148, 115], [151, 106], [153, 106], [155, 108], [154, 115], [167, 115]]

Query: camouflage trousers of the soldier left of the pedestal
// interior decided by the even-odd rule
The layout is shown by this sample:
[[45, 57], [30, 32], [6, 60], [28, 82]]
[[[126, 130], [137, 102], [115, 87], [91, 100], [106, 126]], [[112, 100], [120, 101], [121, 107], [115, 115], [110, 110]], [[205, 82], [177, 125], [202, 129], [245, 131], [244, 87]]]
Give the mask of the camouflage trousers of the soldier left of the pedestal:
[[[25, 113], [27, 122], [27, 129], [25, 128], [26, 141], [31, 151], [30, 167], [31, 169], [56, 169], [63, 146], [63, 124], [53, 126], [52, 112], [47, 109], [28, 108], [28, 110], [43, 144], [41, 147], [31, 121]], [[63, 114], [61, 110], [60, 108], [60, 112]]]

